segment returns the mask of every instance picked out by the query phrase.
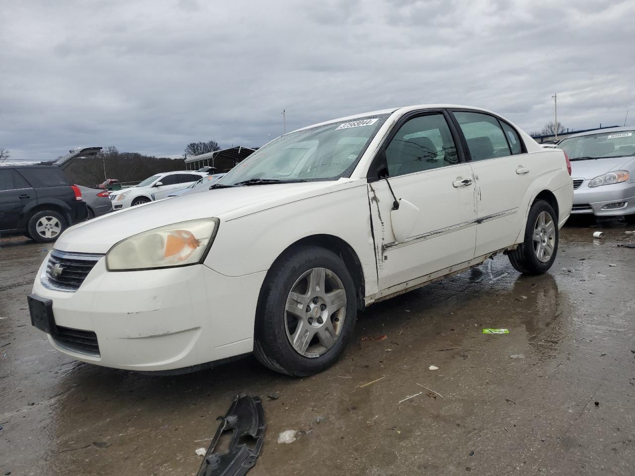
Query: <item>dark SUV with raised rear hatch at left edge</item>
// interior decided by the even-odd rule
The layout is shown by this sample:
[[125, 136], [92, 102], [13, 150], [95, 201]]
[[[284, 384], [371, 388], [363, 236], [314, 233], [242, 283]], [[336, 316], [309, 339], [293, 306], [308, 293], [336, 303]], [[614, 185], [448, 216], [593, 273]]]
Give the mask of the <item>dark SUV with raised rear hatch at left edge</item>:
[[48, 243], [86, 216], [79, 188], [58, 166], [0, 166], [0, 230]]

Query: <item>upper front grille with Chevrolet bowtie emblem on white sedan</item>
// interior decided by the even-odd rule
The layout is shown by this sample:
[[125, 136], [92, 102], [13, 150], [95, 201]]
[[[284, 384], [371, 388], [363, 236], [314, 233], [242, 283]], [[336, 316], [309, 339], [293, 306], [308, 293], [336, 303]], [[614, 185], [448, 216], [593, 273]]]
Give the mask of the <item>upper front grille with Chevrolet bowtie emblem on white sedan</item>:
[[57, 291], [77, 291], [102, 256], [67, 253], [54, 249], [46, 263], [46, 274], [42, 277], [42, 284]]

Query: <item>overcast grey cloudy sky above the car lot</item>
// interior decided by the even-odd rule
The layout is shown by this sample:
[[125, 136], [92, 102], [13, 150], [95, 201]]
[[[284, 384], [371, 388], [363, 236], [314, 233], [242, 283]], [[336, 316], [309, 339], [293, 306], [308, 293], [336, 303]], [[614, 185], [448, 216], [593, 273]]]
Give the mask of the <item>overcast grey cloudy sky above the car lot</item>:
[[635, 125], [635, 1], [0, 0], [0, 147], [259, 146], [417, 103]]

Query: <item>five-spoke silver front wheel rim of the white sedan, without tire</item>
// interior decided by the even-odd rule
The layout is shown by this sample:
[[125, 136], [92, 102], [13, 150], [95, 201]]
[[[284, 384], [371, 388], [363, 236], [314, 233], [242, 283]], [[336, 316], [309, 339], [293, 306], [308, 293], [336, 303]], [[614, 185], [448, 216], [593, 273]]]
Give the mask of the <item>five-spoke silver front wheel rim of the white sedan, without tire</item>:
[[326, 268], [302, 274], [287, 297], [284, 327], [295, 351], [304, 357], [327, 352], [342, 333], [346, 291], [342, 280]]

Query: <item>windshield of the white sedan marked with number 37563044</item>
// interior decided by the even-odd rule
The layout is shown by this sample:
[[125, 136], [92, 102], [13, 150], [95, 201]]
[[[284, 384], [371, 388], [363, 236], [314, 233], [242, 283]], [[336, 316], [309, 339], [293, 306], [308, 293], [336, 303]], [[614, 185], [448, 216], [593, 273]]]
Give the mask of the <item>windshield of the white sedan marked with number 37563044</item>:
[[240, 162], [218, 183], [253, 179], [337, 180], [350, 175], [389, 114], [333, 122], [280, 136]]

